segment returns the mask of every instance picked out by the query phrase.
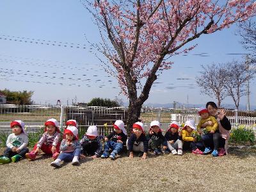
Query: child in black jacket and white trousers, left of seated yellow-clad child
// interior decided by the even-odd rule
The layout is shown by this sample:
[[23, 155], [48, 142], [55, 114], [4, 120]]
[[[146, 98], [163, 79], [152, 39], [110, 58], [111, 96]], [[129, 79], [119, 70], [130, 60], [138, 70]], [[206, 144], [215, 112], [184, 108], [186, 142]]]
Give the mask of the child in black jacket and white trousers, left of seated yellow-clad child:
[[[167, 140], [168, 150], [172, 152], [173, 155], [182, 156], [182, 141], [179, 136], [179, 124], [178, 122], [172, 122], [170, 124], [170, 129], [168, 129], [164, 135]], [[166, 149], [167, 150], [167, 149]], [[177, 152], [178, 150], [178, 152]], [[167, 153], [167, 152], [165, 152]]]

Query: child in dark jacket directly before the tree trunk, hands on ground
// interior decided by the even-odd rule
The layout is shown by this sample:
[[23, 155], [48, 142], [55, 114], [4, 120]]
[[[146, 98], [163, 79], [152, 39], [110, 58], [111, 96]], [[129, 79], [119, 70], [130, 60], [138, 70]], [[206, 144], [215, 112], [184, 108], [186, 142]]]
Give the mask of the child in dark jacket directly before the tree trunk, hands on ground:
[[132, 134], [129, 140], [127, 140], [126, 146], [130, 152], [130, 158], [133, 158], [133, 152], [143, 153], [141, 159], [147, 158], [148, 140], [145, 136], [143, 124], [141, 122], [136, 122], [132, 125]]

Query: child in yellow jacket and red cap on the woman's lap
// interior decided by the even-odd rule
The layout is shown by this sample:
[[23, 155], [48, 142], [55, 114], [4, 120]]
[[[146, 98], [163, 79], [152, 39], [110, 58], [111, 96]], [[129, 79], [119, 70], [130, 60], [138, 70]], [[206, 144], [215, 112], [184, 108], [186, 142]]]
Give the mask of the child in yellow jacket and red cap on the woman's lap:
[[[205, 122], [211, 121], [211, 125], [207, 125], [205, 127], [206, 133], [202, 134], [202, 141], [205, 145], [204, 154], [209, 154], [212, 152], [213, 157], [218, 156], [218, 148], [219, 148], [219, 138], [220, 138], [220, 132], [218, 131], [218, 122], [214, 116], [209, 115], [209, 111], [205, 108], [200, 108], [198, 111], [199, 115], [201, 116], [201, 120], [199, 124], [197, 125], [197, 130], [200, 134], [202, 134], [202, 124]], [[209, 140], [213, 140], [214, 146], [211, 146], [211, 143], [209, 143]], [[214, 150], [212, 151], [212, 148]]]

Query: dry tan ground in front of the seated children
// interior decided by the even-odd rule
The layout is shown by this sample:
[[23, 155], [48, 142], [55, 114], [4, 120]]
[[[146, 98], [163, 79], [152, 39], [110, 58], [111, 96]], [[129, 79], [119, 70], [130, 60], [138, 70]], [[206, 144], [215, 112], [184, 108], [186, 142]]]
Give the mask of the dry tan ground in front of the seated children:
[[[172, 154], [145, 160], [86, 157], [79, 166], [51, 158], [0, 164], [0, 191], [256, 191], [256, 148], [229, 148], [223, 157]], [[3, 154], [3, 148], [0, 149]]]

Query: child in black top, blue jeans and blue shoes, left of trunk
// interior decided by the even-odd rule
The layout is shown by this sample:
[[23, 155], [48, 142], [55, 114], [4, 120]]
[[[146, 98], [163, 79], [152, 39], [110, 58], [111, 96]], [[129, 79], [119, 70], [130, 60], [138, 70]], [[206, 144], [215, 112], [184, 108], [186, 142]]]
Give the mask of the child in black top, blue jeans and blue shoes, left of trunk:
[[104, 152], [101, 158], [108, 158], [109, 148], [111, 148], [112, 152], [109, 157], [114, 160], [116, 154], [121, 152], [123, 145], [126, 143], [127, 132], [124, 128], [124, 122], [122, 120], [116, 120], [113, 127], [114, 131], [105, 138]]

